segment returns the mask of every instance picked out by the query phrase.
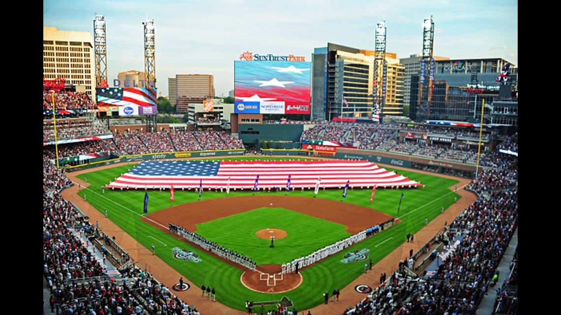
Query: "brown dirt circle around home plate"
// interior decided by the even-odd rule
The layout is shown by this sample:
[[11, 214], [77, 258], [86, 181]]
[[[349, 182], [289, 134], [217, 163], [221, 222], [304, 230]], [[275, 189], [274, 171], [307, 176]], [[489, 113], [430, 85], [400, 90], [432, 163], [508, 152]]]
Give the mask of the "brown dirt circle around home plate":
[[242, 284], [250, 290], [262, 293], [283, 293], [297, 288], [302, 283], [302, 275], [295, 272], [281, 275], [280, 265], [260, 265], [258, 271], [245, 271], [241, 276]]

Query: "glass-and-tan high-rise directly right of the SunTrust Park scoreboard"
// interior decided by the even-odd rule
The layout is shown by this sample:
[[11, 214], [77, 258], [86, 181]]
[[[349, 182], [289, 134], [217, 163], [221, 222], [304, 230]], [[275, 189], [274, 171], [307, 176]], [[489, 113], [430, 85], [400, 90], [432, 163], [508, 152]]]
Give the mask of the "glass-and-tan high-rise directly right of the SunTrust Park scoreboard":
[[[387, 115], [403, 112], [404, 67], [396, 54], [385, 53], [385, 106]], [[375, 52], [328, 43], [312, 55], [311, 118], [371, 119], [374, 109]], [[381, 63], [382, 61], [378, 61]], [[383, 67], [377, 67], [383, 71]]]

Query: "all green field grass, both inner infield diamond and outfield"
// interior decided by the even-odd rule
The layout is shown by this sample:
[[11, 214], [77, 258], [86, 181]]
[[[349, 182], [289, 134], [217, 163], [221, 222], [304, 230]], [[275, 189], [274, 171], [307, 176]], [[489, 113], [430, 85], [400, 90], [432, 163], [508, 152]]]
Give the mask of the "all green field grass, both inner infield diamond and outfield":
[[[271, 160], [272, 158], [267, 159]], [[242, 270], [228, 265], [200, 251], [200, 249], [173, 238], [163, 231], [155, 229], [139, 220], [140, 216], [143, 214], [144, 191], [121, 192], [106, 189], [105, 193], [102, 193], [101, 187], [104, 184], [119, 177], [122, 173], [126, 173], [127, 170], [133, 166], [134, 164], [122, 165], [111, 169], [94, 170], [93, 172], [79, 175], [78, 177], [81, 179], [87, 177], [88, 183], [91, 184], [91, 186], [79, 192], [80, 197], [86, 194], [88, 202], [102, 213], [107, 209], [109, 219], [125, 230], [126, 233], [137, 239], [139, 243], [146, 248], [150, 248], [151, 244], [154, 244], [157, 248], [156, 254], [162, 258], [163, 261], [168, 263], [168, 265], [180, 272], [192, 285], [196, 287], [200, 287], [202, 284], [213, 286], [217, 291], [217, 300], [220, 303], [242, 311], [245, 309], [246, 300], [252, 300], [254, 302], [279, 300], [283, 296], [291, 299], [298, 311], [303, 311], [304, 309], [309, 309], [323, 303], [322, 294], [326, 290], [331, 292], [333, 289], [342, 289], [364, 272], [364, 261], [343, 263], [341, 260], [344, 254], [360, 249], [368, 249], [370, 251], [369, 257], [372, 258], [373, 263], [376, 263], [405, 242], [405, 235], [407, 233], [416, 233], [416, 231], [423, 228], [425, 226], [425, 218], [429, 220], [434, 219], [440, 214], [442, 207], [447, 209], [454, 203], [454, 197], [460, 198], [458, 194], [448, 189], [448, 187], [457, 184], [457, 180], [404, 170], [389, 169], [425, 184], [425, 188], [379, 188], [376, 189], [374, 203], [370, 203], [370, 189], [352, 189], [348, 191], [347, 198], [345, 198], [343, 202], [353, 203], [384, 212], [397, 217], [402, 222], [392, 228], [381, 231], [381, 233], [376, 234], [374, 237], [353, 245], [341, 253], [335, 254], [315, 265], [305, 268], [301, 271], [304, 282], [297, 289], [284, 294], [264, 294], [251, 291], [241, 284], [240, 276]], [[231, 191], [229, 198], [247, 196], [249, 193], [250, 192]], [[260, 193], [284, 195], [284, 192]], [[402, 193], [403, 199], [398, 212], [399, 200]], [[289, 194], [301, 197], [314, 197], [313, 189], [291, 191]], [[226, 197], [226, 192], [205, 191], [201, 196], [201, 200], [222, 197]], [[339, 201], [342, 199], [342, 189], [321, 190], [318, 194], [318, 198]], [[199, 200], [199, 194], [197, 192], [179, 191], [176, 189], [174, 192], [173, 205], [196, 202], [197, 200]], [[170, 205], [169, 191], [149, 192], [149, 213], [166, 209]], [[284, 217], [283, 220], [270, 221], [272, 217], [275, 217], [269, 215], [271, 211], [274, 211], [275, 216], [286, 215], [287, 217]], [[287, 225], [281, 226], [280, 224], [283, 222], [287, 222]], [[283, 256], [277, 256], [275, 251], [275, 257], [272, 257], [270, 251], [261, 250], [264, 246], [268, 248], [270, 242], [255, 237], [255, 231], [272, 228], [273, 226], [268, 226], [270, 224], [275, 224], [274, 228], [284, 230], [294, 228], [298, 233], [300, 233], [301, 230], [307, 230], [307, 233], [310, 233], [311, 236], [302, 235], [301, 239], [296, 239], [296, 237], [295, 239], [290, 239], [291, 244], [301, 242], [301, 246], [287, 249], [286, 253], [282, 254]], [[298, 226], [300, 224], [302, 225]], [[328, 225], [324, 226], [324, 224]], [[373, 225], [375, 224], [377, 223], [373, 223]], [[220, 228], [217, 228], [217, 226]], [[329, 235], [326, 235], [325, 239], [319, 239], [318, 235], [322, 235], [323, 237], [323, 234], [325, 234], [327, 230], [329, 230]], [[224, 247], [243, 253], [253, 258], [259, 264], [289, 261], [298, 257], [298, 253], [301, 249], [302, 252], [310, 253], [324, 245], [333, 243], [334, 240], [348, 236], [348, 233], [344, 232], [344, 227], [341, 225], [305, 216], [294, 211], [270, 208], [256, 209], [245, 212], [244, 214], [199, 224], [197, 225], [197, 233], [206, 239], [224, 245]], [[292, 232], [289, 233], [289, 235], [292, 234]], [[109, 237], [111, 236], [112, 235], [109, 235]], [[252, 240], [252, 237], [255, 239]], [[281, 241], [282, 239], [275, 240], [275, 249], [281, 247]], [[196, 252], [203, 262], [195, 263], [176, 260], [171, 254], [171, 250], [175, 247]], [[311, 248], [310, 251], [307, 251], [309, 248]], [[125, 248], [125, 250], [127, 249]], [[150, 266], [146, 267], [148, 267], [148, 271], [150, 271]], [[373, 277], [377, 280], [376, 276]]]

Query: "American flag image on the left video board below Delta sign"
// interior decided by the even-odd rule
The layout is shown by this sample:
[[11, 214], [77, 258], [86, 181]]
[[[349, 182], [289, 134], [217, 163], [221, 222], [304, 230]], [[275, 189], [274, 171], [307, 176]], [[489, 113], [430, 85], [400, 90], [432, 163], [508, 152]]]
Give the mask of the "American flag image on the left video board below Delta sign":
[[102, 87], [97, 89], [98, 106], [157, 106], [155, 89]]

